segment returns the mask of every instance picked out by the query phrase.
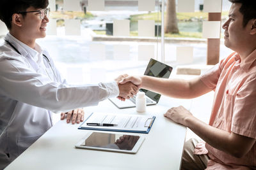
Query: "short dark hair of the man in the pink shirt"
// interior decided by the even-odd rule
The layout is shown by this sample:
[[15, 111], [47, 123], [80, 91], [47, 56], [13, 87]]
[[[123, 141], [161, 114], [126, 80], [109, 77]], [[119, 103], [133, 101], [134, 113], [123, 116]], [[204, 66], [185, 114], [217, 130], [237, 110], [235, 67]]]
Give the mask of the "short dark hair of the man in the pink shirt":
[[256, 18], [256, 1], [255, 0], [228, 0], [231, 3], [241, 3], [239, 11], [243, 14], [243, 27], [248, 22]]

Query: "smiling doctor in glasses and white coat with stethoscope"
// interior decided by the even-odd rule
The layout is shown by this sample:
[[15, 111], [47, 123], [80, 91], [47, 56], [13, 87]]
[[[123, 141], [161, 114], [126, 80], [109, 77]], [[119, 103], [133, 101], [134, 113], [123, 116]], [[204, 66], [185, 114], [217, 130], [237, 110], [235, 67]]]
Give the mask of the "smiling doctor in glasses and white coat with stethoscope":
[[52, 112], [69, 111], [67, 122], [79, 123], [84, 113], [76, 108], [97, 105], [108, 97], [129, 99], [138, 92], [132, 83], [120, 85], [119, 80], [68, 85], [49, 53], [35, 42], [45, 37], [47, 6], [48, 0], [0, 2], [0, 19], [9, 29], [0, 46], [0, 169], [52, 127]]

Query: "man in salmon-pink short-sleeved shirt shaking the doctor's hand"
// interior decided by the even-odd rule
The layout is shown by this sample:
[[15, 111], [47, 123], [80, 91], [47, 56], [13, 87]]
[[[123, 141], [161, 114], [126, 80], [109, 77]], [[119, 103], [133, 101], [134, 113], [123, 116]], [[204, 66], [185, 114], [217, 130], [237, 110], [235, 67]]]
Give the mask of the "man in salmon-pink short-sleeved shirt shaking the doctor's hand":
[[215, 91], [209, 125], [182, 106], [164, 114], [206, 143], [185, 143], [181, 169], [256, 169], [256, 1], [229, 1], [223, 29], [225, 45], [234, 53], [226, 59], [193, 80], [129, 76], [121, 81], [186, 99]]

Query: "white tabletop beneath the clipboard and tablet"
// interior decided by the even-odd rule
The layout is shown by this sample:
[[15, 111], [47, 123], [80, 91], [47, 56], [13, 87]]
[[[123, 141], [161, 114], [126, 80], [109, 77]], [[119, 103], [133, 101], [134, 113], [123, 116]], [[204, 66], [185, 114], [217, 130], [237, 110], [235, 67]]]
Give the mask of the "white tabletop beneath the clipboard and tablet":
[[[88, 131], [79, 130], [79, 124], [67, 124], [64, 120], [45, 132], [6, 169], [179, 169], [186, 127], [163, 117], [163, 113], [179, 104], [189, 109], [190, 101], [179, 100], [173, 104], [174, 99], [161, 99], [162, 102], [156, 106], [147, 106], [146, 113], [137, 113], [135, 108], [119, 110], [109, 100], [85, 110], [86, 116], [92, 111], [155, 115], [156, 120], [151, 131], [141, 134], [145, 136], [145, 141], [135, 155], [77, 149], [74, 146]], [[181, 101], [183, 102], [180, 103]]]

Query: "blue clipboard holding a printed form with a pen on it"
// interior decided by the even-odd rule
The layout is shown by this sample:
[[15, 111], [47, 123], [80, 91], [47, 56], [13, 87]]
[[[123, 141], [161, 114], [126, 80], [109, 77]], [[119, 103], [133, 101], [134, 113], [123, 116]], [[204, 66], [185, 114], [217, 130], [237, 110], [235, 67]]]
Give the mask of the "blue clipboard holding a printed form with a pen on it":
[[[120, 121], [121, 119], [125, 121], [122, 122]], [[149, 116], [149, 115], [92, 113], [88, 118], [86, 118], [86, 120], [84, 120], [83, 124], [81, 124], [78, 127], [78, 129], [148, 134], [148, 132], [150, 132], [152, 125], [154, 124], [155, 119], [156, 119], [155, 116]], [[111, 121], [111, 124], [118, 124], [118, 126], [103, 127], [103, 126], [86, 125], [86, 123], [92, 122], [93, 120], [94, 122], [97, 121], [98, 123], [109, 123], [109, 121]]]

